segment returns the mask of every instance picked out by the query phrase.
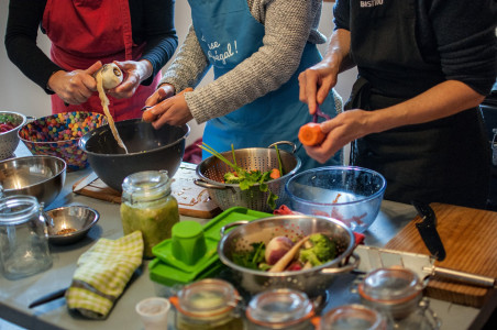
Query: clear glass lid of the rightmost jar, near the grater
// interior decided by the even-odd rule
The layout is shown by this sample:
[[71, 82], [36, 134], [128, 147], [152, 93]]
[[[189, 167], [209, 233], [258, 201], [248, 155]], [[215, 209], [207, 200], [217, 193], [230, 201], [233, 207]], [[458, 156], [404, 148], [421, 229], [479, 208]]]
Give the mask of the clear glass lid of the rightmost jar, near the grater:
[[388, 304], [400, 304], [419, 297], [422, 284], [418, 276], [404, 267], [378, 268], [366, 275], [358, 285], [362, 298]]

